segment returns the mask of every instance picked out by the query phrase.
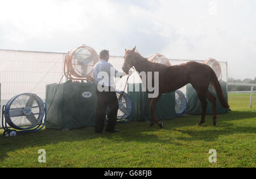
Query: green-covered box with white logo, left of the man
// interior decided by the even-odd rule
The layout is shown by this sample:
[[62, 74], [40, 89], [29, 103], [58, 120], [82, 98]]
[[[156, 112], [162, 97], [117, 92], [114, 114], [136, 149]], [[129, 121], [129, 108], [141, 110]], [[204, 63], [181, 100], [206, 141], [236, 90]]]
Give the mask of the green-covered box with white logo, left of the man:
[[[50, 129], [72, 129], [94, 126], [97, 107], [96, 85], [94, 83], [66, 82], [46, 86], [47, 123]], [[55, 98], [53, 95], [57, 89]]]

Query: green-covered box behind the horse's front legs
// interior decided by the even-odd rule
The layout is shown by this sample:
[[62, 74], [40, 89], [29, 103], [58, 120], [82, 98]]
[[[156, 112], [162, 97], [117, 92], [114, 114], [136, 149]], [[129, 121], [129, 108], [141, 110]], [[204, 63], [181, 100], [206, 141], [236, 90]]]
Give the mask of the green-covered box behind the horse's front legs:
[[[128, 95], [133, 100], [133, 120], [145, 121], [151, 119], [148, 94], [142, 91], [142, 84], [128, 84]], [[175, 113], [175, 92], [163, 94], [156, 103], [156, 117], [159, 120], [172, 119]]]

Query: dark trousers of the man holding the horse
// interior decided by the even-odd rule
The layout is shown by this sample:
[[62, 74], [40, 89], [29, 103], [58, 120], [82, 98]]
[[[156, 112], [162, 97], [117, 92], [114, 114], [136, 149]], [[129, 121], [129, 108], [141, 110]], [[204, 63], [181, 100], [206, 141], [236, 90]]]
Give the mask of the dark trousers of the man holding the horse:
[[108, 109], [108, 126], [106, 131], [113, 131], [117, 121], [117, 111], [119, 109], [117, 95], [115, 91], [97, 90], [97, 111], [96, 111], [96, 125], [95, 132], [102, 133], [104, 122], [106, 118], [106, 110]]

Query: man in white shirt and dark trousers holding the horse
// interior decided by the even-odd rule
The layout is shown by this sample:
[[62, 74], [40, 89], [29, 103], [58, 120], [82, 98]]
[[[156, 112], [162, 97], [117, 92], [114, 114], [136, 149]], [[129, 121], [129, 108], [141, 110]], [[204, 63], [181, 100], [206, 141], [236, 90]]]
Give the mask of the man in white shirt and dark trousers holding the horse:
[[115, 77], [125, 76], [126, 73], [118, 72], [109, 61], [109, 51], [100, 52], [100, 61], [93, 67], [94, 82], [97, 85], [97, 111], [95, 132], [102, 133], [108, 109], [108, 126], [106, 132], [118, 132], [115, 129], [117, 111], [119, 109], [117, 95], [115, 94]]

